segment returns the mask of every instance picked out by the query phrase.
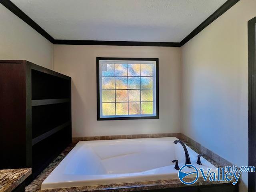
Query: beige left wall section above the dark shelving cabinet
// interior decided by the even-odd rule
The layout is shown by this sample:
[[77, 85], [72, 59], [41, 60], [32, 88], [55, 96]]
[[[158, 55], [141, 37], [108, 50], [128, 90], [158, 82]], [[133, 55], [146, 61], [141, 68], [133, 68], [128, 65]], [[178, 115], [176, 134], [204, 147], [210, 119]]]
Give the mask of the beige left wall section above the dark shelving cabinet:
[[53, 69], [53, 44], [0, 4], [0, 59]]

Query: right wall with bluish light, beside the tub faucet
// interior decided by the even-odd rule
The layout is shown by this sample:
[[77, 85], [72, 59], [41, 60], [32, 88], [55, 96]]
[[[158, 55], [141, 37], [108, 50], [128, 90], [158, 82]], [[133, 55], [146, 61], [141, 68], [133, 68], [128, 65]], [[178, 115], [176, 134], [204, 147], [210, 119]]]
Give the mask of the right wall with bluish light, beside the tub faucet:
[[[240, 0], [182, 46], [182, 132], [237, 166], [248, 165], [247, 22]], [[240, 191], [246, 191], [247, 174]]]

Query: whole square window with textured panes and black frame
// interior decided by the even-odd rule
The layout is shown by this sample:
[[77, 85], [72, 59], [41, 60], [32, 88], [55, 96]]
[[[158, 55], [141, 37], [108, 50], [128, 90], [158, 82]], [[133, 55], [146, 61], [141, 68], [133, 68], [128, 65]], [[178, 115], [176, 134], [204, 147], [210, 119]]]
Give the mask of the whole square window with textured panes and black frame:
[[98, 120], [158, 114], [158, 59], [97, 58]]

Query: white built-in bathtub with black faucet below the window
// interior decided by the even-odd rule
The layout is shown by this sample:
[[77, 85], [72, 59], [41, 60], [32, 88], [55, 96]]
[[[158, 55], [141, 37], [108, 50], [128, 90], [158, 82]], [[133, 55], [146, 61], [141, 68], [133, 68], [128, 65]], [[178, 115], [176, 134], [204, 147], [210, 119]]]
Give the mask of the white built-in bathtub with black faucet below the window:
[[[177, 179], [179, 166], [185, 163], [184, 149], [174, 144], [176, 137], [80, 141], [50, 173], [41, 189], [101, 184]], [[191, 164], [198, 168], [216, 167], [186, 146]], [[193, 175], [191, 175], [193, 176]]]

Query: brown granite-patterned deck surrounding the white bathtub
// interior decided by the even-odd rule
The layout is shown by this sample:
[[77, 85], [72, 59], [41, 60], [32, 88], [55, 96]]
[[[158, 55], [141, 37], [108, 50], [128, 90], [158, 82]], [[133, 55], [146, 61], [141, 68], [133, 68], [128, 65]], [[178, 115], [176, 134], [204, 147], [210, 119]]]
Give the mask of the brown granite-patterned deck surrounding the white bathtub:
[[[188, 142], [182, 140], [187, 146], [192, 148], [198, 154], [200, 152], [191, 146]], [[154, 189], [164, 189], [164, 188], [177, 188], [184, 187], [182, 182], [179, 179], [170, 179], [170, 180], [156, 180], [156, 181], [146, 181], [146, 182], [131, 182], [131, 183], [120, 183], [120, 184], [108, 184], [108, 185], [94, 185], [94, 186], [83, 186], [83, 187], [72, 187], [72, 188], [58, 188], [58, 189], [49, 189], [49, 190], [40, 190], [42, 182], [46, 177], [54, 170], [54, 168], [62, 161], [62, 159], [72, 150], [74, 144], [68, 146], [30, 185], [26, 187], [26, 192], [85, 192], [85, 191], [94, 191], [94, 192], [130, 192], [130, 191], [140, 191], [140, 190], [154, 190]], [[220, 164], [210, 159], [208, 156], [203, 155], [203, 157], [212, 163], [216, 167], [221, 167]], [[186, 178], [186, 181], [194, 180], [194, 178]], [[230, 181], [232, 182], [232, 181]], [[199, 185], [210, 185], [210, 184], [221, 184], [221, 183], [230, 183], [227, 181], [220, 182], [210, 182], [204, 181], [202, 177], [199, 177], [197, 182], [190, 186], [199, 186]]]

